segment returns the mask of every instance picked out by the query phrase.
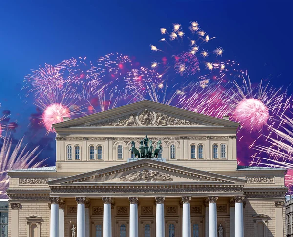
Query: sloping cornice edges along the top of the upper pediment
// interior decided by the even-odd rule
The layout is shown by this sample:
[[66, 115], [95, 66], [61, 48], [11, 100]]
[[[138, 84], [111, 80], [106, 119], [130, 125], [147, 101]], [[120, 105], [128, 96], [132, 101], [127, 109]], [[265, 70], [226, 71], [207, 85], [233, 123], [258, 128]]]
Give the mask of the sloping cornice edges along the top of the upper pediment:
[[[67, 121], [60, 122], [60, 123], [55, 123], [55, 124], [52, 124], [52, 127], [55, 128], [55, 129], [56, 128], [62, 128], [62, 127], [70, 127], [71, 125], [76, 124], [76, 122], [79, 122], [79, 121], [83, 122], [84, 120], [87, 120], [87, 122], [89, 122], [90, 119], [92, 119], [92, 118], [93, 118], [92, 119], [92, 121], [93, 121], [93, 120], [95, 120], [95, 117], [97, 116], [97, 114], [99, 114], [99, 115], [100, 114], [107, 115], [107, 114], [114, 113], [115, 111], [117, 112], [117, 114], [125, 113], [125, 112], [128, 111], [128, 110], [126, 110], [127, 107], [131, 108], [134, 105], [139, 105], [139, 104], [142, 104], [142, 105], [145, 104], [145, 106], [150, 106], [150, 107], [154, 106], [154, 105], [156, 105], [156, 106], [159, 105], [161, 107], [162, 106], [165, 107], [166, 111], [168, 111], [168, 108], [175, 109], [175, 110], [178, 111], [178, 114], [181, 114], [183, 111], [197, 114], [198, 116], [202, 117], [202, 119], [199, 119], [199, 120], [202, 120], [202, 121], [205, 121], [205, 119], [208, 119], [208, 120], [214, 119], [214, 120], [217, 120], [219, 123], [225, 124], [227, 126], [236, 127], [236, 128], [238, 128], [240, 126], [240, 123], [233, 122], [233, 121], [230, 121], [230, 120], [220, 119], [220, 118], [212, 117], [212, 116], [209, 116], [209, 115], [196, 113], [196, 112], [193, 112], [193, 111], [190, 111], [190, 110], [185, 110], [185, 109], [177, 108], [175, 106], [162, 104], [162, 103], [158, 103], [158, 102], [154, 102], [154, 101], [150, 101], [150, 100], [142, 100], [142, 101], [139, 101], [139, 102], [126, 104], [126, 105], [123, 105], [123, 106], [120, 106], [120, 107], [117, 107], [117, 108], [105, 110], [105, 111], [95, 113], [95, 114], [92, 114], [92, 115], [86, 115], [86, 116], [83, 116], [83, 117], [80, 117], [80, 118], [70, 119], [70, 120], [67, 120]], [[161, 108], [161, 109], [164, 110], [164, 108]], [[205, 122], [209, 122], [209, 121], [205, 121]]]

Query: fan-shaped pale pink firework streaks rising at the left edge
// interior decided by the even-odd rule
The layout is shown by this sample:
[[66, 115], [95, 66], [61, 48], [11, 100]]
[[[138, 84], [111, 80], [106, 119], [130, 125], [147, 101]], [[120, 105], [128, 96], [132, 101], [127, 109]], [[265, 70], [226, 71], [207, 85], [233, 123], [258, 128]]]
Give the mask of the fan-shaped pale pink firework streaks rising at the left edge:
[[7, 198], [5, 191], [9, 184], [8, 170], [40, 167], [46, 161], [36, 162], [40, 154], [39, 146], [28, 150], [27, 145], [23, 146], [22, 143], [23, 138], [13, 147], [12, 138], [3, 140], [0, 149], [0, 198]]

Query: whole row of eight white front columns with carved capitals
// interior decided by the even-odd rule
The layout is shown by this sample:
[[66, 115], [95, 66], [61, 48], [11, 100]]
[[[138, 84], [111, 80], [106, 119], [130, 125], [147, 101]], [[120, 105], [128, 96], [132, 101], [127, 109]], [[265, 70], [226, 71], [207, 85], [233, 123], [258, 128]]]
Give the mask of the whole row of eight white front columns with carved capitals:
[[[217, 225], [217, 196], [208, 197], [208, 236], [218, 237]], [[244, 237], [243, 225], [243, 199], [244, 196], [234, 196], [235, 216], [234, 216], [234, 237]], [[112, 197], [102, 197], [103, 208], [103, 237], [112, 237], [112, 217], [111, 202]], [[128, 197], [130, 203], [129, 214], [129, 237], [138, 237], [138, 200], [139, 197]], [[190, 217], [190, 201], [191, 197], [181, 197], [182, 212], [182, 237], [191, 237], [191, 217]], [[51, 201], [51, 225], [50, 237], [59, 237], [59, 197], [50, 197]], [[77, 236], [85, 237], [85, 197], [76, 197], [77, 201]], [[165, 197], [155, 197], [156, 201], [156, 237], [165, 237], [165, 219], [164, 219], [164, 201]], [[231, 217], [230, 217], [231, 218]], [[206, 227], [207, 228], [207, 227]], [[207, 233], [206, 233], [207, 235]]]

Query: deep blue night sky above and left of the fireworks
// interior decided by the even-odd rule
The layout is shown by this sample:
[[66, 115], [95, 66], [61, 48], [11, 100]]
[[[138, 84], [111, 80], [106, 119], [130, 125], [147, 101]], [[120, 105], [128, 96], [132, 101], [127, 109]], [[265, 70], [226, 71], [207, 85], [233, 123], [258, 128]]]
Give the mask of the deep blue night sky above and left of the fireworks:
[[34, 101], [24, 101], [24, 76], [45, 63], [115, 52], [149, 67], [149, 45], [160, 39], [160, 27], [193, 20], [216, 36], [222, 58], [240, 63], [252, 82], [270, 78], [291, 94], [292, 7], [289, 0], [1, 1], [0, 112], [10, 111], [14, 138], [25, 135], [29, 145], [40, 145], [40, 159], [50, 157], [54, 165], [54, 134], [39, 128]]

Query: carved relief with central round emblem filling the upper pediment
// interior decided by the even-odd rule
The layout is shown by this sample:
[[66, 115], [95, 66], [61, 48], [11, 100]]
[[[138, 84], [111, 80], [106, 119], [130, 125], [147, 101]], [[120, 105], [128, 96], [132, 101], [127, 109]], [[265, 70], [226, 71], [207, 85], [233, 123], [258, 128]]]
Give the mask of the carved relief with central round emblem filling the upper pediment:
[[105, 121], [100, 121], [86, 126], [196, 126], [203, 125], [194, 121], [179, 119], [163, 113], [157, 113], [149, 109], [140, 112], [131, 113], [129, 115], [120, 116]]

